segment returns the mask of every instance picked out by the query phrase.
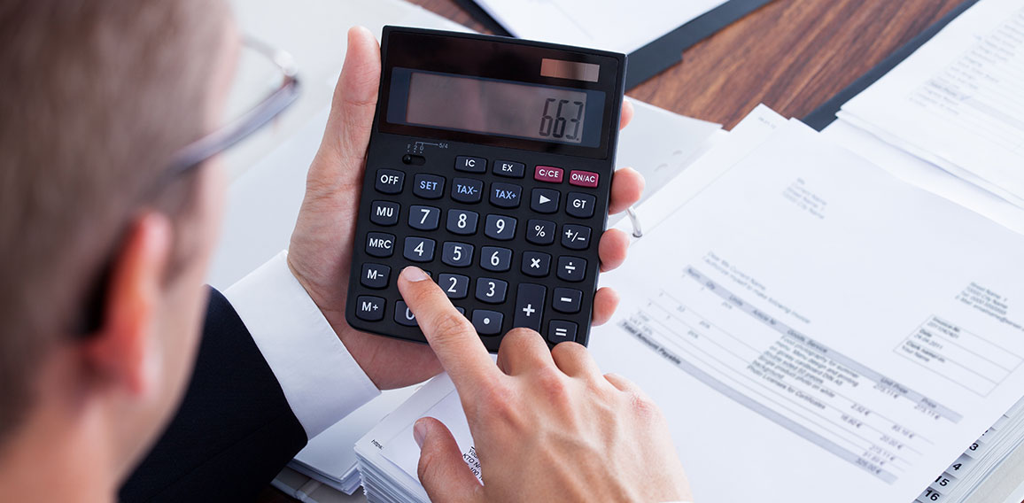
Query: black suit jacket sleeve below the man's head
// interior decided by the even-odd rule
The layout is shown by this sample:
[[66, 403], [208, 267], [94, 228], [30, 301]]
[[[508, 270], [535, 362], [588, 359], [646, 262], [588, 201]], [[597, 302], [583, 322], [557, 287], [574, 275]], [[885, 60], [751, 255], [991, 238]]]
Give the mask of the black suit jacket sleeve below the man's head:
[[252, 501], [305, 445], [263, 354], [213, 290], [184, 401], [120, 499]]

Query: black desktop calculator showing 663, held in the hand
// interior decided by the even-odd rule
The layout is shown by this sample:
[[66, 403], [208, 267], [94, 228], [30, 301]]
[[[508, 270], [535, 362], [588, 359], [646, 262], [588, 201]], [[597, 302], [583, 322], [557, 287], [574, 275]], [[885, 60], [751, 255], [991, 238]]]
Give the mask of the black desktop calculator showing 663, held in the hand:
[[386, 27], [346, 319], [426, 342], [396, 287], [426, 270], [497, 351], [587, 344], [626, 56]]

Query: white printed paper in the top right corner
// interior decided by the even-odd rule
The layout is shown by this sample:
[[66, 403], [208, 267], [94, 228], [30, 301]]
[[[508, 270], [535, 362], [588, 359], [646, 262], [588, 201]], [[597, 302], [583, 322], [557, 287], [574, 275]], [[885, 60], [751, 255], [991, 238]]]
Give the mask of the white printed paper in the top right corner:
[[981, 0], [840, 117], [1024, 206], [1022, 89], [1024, 5]]

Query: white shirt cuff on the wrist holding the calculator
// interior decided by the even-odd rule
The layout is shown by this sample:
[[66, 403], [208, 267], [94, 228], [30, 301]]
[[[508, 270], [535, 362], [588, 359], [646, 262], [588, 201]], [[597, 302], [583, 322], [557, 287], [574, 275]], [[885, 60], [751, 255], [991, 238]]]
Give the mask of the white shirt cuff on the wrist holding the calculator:
[[224, 292], [312, 438], [380, 394], [279, 253]]

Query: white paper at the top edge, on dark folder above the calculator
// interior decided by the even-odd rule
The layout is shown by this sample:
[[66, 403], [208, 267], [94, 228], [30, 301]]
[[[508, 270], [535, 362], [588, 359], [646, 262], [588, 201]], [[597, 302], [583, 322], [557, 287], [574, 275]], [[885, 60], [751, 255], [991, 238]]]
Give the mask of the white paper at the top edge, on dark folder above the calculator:
[[512, 35], [633, 52], [725, 0], [475, 0]]

